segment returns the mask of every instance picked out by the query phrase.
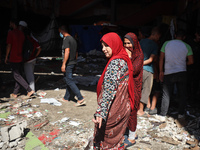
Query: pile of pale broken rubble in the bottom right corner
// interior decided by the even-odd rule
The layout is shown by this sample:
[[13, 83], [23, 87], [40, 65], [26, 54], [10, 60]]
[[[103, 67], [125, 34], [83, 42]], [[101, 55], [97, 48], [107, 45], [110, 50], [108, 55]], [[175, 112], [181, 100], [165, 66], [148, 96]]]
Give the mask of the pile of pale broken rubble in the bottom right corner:
[[[155, 115], [138, 117], [137, 134], [135, 149], [200, 149], [200, 132], [191, 134], [190, 125], [183, 126], [186, 119], [175, 119], [167, 117], [165, 122], [156, 119]], [[194, 122], [195, 120], [191, 120]], [[195, 124], [197, 125], [197, 124]], [[134, 149], [129, 148], [129, 149]]]

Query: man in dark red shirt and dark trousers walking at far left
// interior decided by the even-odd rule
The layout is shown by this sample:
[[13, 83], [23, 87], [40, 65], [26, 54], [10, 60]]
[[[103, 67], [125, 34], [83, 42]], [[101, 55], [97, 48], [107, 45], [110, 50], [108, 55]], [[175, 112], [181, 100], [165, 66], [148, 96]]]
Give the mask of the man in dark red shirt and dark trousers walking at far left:
[[21, 85], [27, 90], [27, 98], [29, 98], [34, 93], [34, 91], [29, 87], [28, 83], [21, 75], [21, 69], [23, 66], [22, 47], [25, 37], [23, 32], [18, 29], [17, 20], [12, 19], [10, 21], [10, 28], [12, 30], [8, 32], [5, 58], [5, 63], [7, 64], [9, 56], [9, 62], [12, 68], [13, 77], [15, 79], [14, 91], [12, 94], [10, 94], [10, 97], [17, 97]]

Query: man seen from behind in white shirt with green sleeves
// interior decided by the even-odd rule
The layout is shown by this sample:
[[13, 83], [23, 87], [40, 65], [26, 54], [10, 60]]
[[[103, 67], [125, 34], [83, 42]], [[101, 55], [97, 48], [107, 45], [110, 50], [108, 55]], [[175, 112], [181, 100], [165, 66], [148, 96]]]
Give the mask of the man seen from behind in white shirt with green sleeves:
[[[179, 95], [178, 118], [184, 116], [184, 109], [186, 106], [187, 93], [187, 77], [186, 65], [193, 64], [193, 52], [191, 47], [183, 42], [185, 39], [185, 32], [178, 31], [176, 39], [166, 41], [160, 52], [160, 81], [163, 82], [163, 96], [161, 103], [161, 116], [157, 118], [165, 121], [167, 115], [170, 97], [173, 93], [174, 85], [177, 87], [177, 94]], [[164, 65], [165, 64], [165, 65]], [[163, 65], [165, 70], [163, 69]], [[163, 78], [164, 77], [164, 78]]]

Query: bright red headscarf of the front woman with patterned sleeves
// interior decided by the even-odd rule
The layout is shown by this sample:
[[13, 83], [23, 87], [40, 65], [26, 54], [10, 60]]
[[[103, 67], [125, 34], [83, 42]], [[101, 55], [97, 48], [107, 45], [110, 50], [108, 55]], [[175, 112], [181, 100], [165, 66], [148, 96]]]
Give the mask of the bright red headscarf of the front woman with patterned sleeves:
[[109, 63], [113, 59], [123, 59], [128, 64], [128, 70], [129, 70], [129, 81], [128, 81], [128, 92], [129, 92], [129, 100], [131, 103], [131, 109], [134, 108], [134, 82], [133, 82], [133, 66], [130, 58], [128, 57], [128, 54], [126, 53], [126, 50], [123, 47], [123, 42], [121, 38], [114, 32], [110, 32], [105, 34], [101, 41], [104, 41], [111, 49], [112, 49], [112, 56], [108, 60], [108, 63], [99, 79], [98, 85], [97, 85], [97, 97], [99, 97], [100, 91], [102, 89], [103, 79], [105, 72], [107, 70], [107, 67]]

